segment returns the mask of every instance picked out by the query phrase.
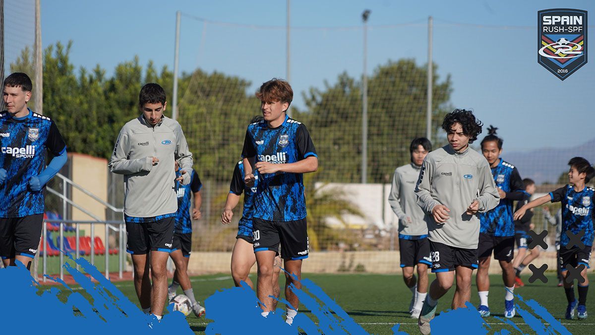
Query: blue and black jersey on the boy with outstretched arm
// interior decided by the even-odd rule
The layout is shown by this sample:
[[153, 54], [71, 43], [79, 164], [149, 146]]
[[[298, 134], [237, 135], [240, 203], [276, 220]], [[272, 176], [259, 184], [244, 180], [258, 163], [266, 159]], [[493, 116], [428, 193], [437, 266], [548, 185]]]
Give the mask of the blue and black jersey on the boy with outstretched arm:
[[583, 191], [577, 192], [572, 185], [560, 187], [558, 190], [550, 192], [552, 202], [562, 202], [562, 235], [560, 236], [560, 245], [566, 246], [570, 238], [566, 231], [572, 234], [584, 229], [585, 234], [581, 241], [585, 246], [593, 246], [593, 221], [595, 219], [594, 204], [595, 190], [591, 187], [585, 187]]

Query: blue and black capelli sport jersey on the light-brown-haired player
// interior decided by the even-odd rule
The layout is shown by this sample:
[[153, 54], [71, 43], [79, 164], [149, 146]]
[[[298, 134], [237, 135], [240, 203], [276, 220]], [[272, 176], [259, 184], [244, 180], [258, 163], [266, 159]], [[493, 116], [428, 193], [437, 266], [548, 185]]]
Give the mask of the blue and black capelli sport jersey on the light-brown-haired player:
[[[248, 126], [242, 157], [256, 157], [256, 162], [285, 164], [309, 156], [318, 157], [308, 129], [288, 116], [277, 128], [268, 128], [264, 120]], [[253, 217], [277, 222], [306, 218], [302, 173], [260, 175]]]

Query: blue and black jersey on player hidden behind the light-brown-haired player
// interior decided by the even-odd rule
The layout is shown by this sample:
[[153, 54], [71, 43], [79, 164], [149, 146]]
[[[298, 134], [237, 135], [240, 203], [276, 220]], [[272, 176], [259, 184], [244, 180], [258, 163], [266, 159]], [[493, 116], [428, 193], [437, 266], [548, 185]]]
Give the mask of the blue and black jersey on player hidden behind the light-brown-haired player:
[[231, 184], [229, 185], [229, 193], [236, 194], [236, 196], [244, 193], [244, 207], [242, 211], [242, 218], [238, 223], [237, 234], [252, 237], [252, 206], [254, 204], [254, 195], [258, 187], [258, 173], [254, 175], [255, 181], [253, 187], [247, 187], [244, 182], [244, 165], [243, 162], [237, 162], [233, 169], [233, 177], [231, 177]]

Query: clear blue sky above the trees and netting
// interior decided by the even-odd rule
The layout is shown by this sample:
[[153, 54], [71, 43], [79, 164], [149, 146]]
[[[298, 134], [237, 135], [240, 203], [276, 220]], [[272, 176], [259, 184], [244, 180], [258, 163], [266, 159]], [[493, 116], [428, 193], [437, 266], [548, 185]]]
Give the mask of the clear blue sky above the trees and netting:
[[[293, 0], [291, 83], [302, 92], [343, 71], [361, 76], [365, 9], [372, 12], [368, 73], [389, 59], [425, 64], [432, 15], [434, 62], [442, 78], [452, 77], [455, 107], [499, 127], [509, 151], [578, 145], [595, 137], [595, 65], [590, 60], [562, 82], [537, 63], [537, 11], [548, 8], [591, 14], [595, 2]], [[42, 0], [43, 45], [72, 40], [76, 66], [100, 64], [108, 73], [134, 55], [173, 69], [177, 10], [180, 71], [217, 70], [253, 85], [286, 76], [284, 0]], [[295, 104], [302, 106], [300, 94]]]

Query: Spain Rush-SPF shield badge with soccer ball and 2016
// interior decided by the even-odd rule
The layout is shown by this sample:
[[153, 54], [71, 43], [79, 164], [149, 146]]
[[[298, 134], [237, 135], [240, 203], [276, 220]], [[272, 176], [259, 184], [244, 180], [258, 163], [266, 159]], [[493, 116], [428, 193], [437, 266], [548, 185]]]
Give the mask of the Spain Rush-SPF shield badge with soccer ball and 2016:
[[537, 12], [537, 62], [560, 80], [587, 64], [587, 11]]

